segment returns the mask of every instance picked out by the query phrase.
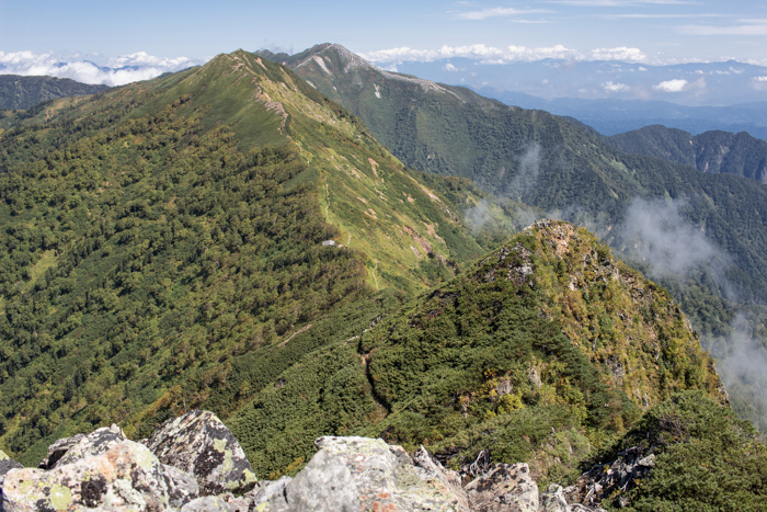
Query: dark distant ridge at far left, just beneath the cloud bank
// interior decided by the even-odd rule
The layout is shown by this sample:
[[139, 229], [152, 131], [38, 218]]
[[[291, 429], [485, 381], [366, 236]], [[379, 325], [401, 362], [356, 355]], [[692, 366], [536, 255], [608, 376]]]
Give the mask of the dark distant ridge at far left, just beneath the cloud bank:
[[107, 86], [91, 86], [68, 78], [0, 75], [0, 110], [28, 109], [43, 101], [95, 94], [106, 89]]

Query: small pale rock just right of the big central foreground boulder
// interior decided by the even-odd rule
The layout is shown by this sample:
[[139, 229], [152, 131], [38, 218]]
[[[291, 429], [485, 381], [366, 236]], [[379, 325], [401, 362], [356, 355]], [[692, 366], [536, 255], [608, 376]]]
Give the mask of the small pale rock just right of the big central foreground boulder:
[[527, 464], [497, 464], [463, 490], [474, 512], [538, 512], [538, 486]]

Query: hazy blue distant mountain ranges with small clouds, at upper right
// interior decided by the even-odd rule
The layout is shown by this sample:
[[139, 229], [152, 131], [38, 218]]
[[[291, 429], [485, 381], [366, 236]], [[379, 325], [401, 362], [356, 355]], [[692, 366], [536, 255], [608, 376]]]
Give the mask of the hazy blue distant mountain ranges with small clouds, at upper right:
[[692, 134], [724, 129], [767, 139], [767, 68], [763, 66], [443, 59], [390, 67], [466, 86], [506, 104], [573, 116], [604, 135], [662, 124]]

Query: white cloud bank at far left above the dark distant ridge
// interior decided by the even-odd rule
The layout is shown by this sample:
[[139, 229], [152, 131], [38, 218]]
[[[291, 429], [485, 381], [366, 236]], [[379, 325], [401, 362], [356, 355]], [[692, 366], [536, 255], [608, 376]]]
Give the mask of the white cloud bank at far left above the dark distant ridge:
[[33, 52], [0, 52], [0, 75], [24, 75], [70, 78], [84, 83], [124, 86], [138, 80], [148, 80], [164, 72], [179, 71], [204, 64], [207, 59], [187, 57], [165, 58], [139, 52], [107, 59], [103, 66], [83, 60], [79, 54], [56, 55]]

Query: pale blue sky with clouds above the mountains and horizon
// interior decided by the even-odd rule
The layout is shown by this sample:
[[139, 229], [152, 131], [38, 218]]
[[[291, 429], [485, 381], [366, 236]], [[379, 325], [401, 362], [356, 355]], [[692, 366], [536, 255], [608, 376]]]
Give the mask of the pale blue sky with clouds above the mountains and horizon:
[[454, 57], [767, 65], [767, 2], [0, 0], [4, 73], [115, 86], [237, 48], [323, 42], [389, 68]]

